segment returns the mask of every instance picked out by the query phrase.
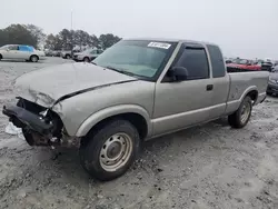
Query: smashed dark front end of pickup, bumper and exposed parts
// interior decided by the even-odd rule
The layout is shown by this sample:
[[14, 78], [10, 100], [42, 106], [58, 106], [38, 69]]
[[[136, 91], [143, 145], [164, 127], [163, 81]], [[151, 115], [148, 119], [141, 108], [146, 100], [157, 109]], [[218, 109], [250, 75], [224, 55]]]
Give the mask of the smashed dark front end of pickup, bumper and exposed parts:
[[3, 115], [18, 128], [30, 146], [78, 147], [78, 140], [67, 136], [60, 117], [51, 109], [22, 98], [17, 106], [3, 107]]

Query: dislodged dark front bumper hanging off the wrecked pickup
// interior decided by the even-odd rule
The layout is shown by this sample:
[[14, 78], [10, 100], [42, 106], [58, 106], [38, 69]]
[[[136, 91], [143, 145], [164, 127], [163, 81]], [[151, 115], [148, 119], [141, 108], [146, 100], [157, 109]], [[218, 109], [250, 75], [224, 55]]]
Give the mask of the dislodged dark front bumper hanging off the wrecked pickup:
[[38, 133], [51, 132], [53, 125], [46, 122], [41, 116], [32, 113], [17, 106], [3, 107], [2, 113], [8, 116], [10, 121], [18, 128], [28, 128]]

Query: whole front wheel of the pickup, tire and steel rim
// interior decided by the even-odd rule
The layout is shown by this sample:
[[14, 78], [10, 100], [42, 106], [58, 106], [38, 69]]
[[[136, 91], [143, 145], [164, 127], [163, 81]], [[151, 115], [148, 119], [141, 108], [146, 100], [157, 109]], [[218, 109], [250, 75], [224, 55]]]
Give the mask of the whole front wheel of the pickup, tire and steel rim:
[[140, 138], [127, 120], [111, 120], [91, 131], [80, 146], [82, 167], [96, 179], [107, 181], [122, 176], [135, 161]]

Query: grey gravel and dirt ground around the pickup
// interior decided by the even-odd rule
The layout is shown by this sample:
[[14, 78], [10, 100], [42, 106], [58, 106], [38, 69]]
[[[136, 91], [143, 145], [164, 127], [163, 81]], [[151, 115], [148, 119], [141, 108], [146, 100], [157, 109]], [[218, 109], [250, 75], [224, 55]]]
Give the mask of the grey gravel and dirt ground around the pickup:
[[[11, 81], [62, 63], [0, 62], [0, 106], [14, 102]], [[219, 120], [146, 142], [123, 177], [98, 182], [76, 150], [29, 147], [4, 133], [0, 113], [0, 208], [278, 208], [278, 99], [256, 107], [249, 125]]]

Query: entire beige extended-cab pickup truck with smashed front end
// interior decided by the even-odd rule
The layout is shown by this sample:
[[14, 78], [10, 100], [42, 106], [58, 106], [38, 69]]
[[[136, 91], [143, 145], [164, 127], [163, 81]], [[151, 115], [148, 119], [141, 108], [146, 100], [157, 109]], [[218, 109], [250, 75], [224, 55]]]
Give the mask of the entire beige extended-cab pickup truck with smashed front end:
[[111, 180], [128, 170], [143, 140], [225, 116], [245, 127], [266, 98], [268, 77], [227, 73], [212, 43], [127, 39], [93, 62], [21, 76], [17, 104], [2, 112], [30, 146], [78, 147], [85, 170]]

